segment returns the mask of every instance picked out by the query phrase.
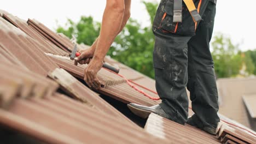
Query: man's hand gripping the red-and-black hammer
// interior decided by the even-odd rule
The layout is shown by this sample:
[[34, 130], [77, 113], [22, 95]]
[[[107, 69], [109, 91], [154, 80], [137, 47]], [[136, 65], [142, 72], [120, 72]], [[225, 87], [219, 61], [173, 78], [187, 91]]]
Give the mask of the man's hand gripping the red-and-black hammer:
[[78, 51], [81, 53], [80, 56], [74, 58], [74, 64], [89, 64], [91, 61], [91, 58], [94, 56], [95, 49], [90, 47], [89, 49], [80, 50]]

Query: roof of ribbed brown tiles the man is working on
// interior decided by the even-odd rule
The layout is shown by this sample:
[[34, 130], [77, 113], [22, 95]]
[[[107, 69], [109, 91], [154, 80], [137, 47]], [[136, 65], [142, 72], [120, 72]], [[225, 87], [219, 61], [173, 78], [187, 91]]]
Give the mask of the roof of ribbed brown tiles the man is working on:
[[[26, 22], [2, 10], [0, 14], [0, 124], [47, 143], [255, 142], [255, 135], [234, 132], [231, 126], [221, 125], [216, 137], [154, 114], [144, 129], [138, 127], [78, 80], [83, 80], [86, 65], [76, 66], [67, 57], [74, 46], [71, 40], [36, 20]], [[109, 57], [105, 62], [119, 67], [120, 75], [101, 69], [98, 93], [125, 104], [161, 102], [143, 94], [159, 98], [154, 80]]]

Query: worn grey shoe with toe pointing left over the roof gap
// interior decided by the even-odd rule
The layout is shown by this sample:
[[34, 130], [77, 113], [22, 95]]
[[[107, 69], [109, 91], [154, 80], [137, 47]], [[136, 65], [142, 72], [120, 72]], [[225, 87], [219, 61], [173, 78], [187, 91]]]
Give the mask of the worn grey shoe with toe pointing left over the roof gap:
[[130, 103], [127, 105], [129, 109], [137, 116], [141, 118], [148, 118], [150, 113], [155, 113], [156, 115], [168, 118], [167, 113], [165, 113], [164, 110], [162, 110], [160, 105], [154, 105], [154, 106], [143, 106], [138, 104]]

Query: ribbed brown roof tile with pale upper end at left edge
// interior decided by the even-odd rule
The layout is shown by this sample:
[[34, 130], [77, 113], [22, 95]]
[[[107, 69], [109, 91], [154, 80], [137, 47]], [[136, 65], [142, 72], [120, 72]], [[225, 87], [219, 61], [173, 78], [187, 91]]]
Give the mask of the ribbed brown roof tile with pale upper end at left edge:
[[31, 70], [42, 75], [47, 75], [48, 71], [57, 68], [57, 65], [50, 63], [50, 59], [44, 55], [40, 47], [34, 46], [34, 39], [28, 37], [19, 28], [14, 27], [9, 22], [0, 17], [2, 26], [0, 27], [1, 44], [8, 47], [8, 50]]

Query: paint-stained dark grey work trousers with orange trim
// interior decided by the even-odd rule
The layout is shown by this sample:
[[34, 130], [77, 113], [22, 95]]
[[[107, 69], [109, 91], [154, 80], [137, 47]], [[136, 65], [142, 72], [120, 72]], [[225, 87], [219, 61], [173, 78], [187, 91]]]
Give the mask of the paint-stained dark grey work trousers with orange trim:
[[[162, 0], [153, 23], [155, 47], [153, 53], [156, 90], [160, 106], [174, 122], [188, 120], [188, 96], [199, 127], [217, 127], [219, 122], [218, 92], [214, 63], [210, 52], [216, 4], [201, 3], [202, 21], [195, 23], [183, 3], [183, 22], [172, 22], [173, 1]], [[198, 5], [199, 1], [195, 2]], [[170, 12], [171, 11], [171, 12]], [[162, 17], [164, 13], [167, 16]]]

